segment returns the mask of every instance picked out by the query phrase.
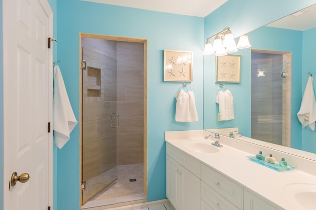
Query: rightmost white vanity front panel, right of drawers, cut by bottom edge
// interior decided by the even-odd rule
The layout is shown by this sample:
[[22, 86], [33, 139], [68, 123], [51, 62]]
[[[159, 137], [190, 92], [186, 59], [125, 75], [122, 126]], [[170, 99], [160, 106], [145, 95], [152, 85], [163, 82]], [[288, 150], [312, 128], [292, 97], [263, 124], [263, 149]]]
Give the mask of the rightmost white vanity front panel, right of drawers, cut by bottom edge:
[[244, 210], [282, 210], [281, 208], [276, 207], [276, 205], [264, 201], [245, 189], [243, 191], [243, 198]]

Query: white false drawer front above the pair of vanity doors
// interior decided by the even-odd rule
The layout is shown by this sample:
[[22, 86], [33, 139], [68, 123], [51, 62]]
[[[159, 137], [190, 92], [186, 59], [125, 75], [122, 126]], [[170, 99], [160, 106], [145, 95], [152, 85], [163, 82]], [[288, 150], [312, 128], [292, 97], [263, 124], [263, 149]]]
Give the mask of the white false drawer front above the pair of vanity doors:
[[201, 164], [197, 159], [180, 151], [168, 142], [166, 142], [166, 153], [192, 174], [201, 178]]

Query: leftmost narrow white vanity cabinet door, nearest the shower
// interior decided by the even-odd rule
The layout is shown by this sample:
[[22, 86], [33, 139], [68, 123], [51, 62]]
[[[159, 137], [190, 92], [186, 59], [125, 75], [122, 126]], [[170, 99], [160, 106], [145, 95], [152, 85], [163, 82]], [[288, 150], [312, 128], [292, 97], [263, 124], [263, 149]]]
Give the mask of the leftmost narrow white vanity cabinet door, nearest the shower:
[[168, 155], [166, 156], [166, 196], [170, 203], [179, 208], [179, 164]]

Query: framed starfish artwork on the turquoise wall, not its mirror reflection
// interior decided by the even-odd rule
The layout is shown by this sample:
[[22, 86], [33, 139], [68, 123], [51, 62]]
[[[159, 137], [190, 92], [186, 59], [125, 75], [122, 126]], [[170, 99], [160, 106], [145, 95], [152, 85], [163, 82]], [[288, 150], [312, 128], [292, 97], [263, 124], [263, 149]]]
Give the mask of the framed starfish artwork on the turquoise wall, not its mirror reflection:
[[163, 81], [192, 82], [191, 51], [163, 51]]

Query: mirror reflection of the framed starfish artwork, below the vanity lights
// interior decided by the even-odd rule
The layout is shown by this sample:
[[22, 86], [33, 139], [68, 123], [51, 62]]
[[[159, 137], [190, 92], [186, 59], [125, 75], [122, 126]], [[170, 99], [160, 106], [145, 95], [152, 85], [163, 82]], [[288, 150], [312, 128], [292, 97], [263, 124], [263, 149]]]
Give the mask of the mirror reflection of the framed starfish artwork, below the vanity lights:
[[240, 55], [216, 57], [215, 82], [240, 82]]

